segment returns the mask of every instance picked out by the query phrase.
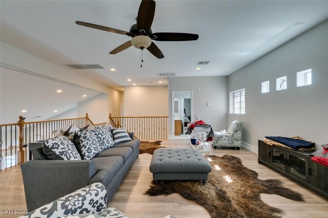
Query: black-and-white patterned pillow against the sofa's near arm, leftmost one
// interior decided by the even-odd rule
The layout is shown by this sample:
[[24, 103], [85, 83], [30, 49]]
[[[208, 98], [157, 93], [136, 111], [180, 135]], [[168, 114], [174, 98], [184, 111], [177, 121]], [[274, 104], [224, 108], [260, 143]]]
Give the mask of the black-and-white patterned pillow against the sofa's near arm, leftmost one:
[[81, 160], [75, 145], [65, 136], [46, 139], [42, 147], [50, 160]]

